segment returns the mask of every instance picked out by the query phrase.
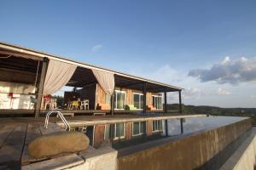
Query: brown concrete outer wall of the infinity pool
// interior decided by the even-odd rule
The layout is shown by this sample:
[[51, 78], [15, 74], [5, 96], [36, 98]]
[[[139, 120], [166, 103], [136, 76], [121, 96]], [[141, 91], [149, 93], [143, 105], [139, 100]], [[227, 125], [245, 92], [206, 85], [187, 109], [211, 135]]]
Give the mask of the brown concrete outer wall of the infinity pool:
[[250, 119], [177, 139], [160, 139], [119, 150], [119, 169], [195, 169], [252, 127]]

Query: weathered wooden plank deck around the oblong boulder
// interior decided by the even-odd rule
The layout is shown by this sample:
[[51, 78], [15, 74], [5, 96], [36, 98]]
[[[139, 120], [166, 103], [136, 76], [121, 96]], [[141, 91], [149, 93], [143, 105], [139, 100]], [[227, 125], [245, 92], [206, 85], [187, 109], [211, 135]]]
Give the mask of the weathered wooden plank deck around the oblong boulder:
[[[80, 161], [75, 154], [64, 154], [41, 159], [33, 158], [28, 154], [26, 147], [32, 139], [41, 135], [63, 131], [55, 123], [50, 123], [49, 128], [45, 129], [42, 122], [34, 122], [33, 120], [4, 120], [6, 123], [1, 120], [2, 126], [0, 127], [0, 169], [20, 169], [20, 167], [22, 169], [44, 169], [45, 163], [49, 166], [50, 160], [59, 160], [58, 167], [65, 167], [63, 165], [65, 160], [66, 164], [67, 162], [68, 164], [76, 164]], [[34, 164], [31, 163], [38, 161], [44, 161], [43, 167], [33, 167]], [[53, 166], [53, 162], [51, 166]]]

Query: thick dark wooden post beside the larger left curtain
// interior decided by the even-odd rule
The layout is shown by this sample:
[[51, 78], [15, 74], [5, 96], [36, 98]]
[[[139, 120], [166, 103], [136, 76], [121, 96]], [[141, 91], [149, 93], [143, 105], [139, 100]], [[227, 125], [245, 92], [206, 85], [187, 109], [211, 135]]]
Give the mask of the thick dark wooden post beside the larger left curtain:
[[44, 80], [45, 80], [45, 76], [46, 76], [48, 63], [49, 63], [49, 59], [44, 57], [40, 82], [39, 82], [39, 86], [38, 86], [38, 89], [37, 89], [38, 93], [37, 93], [37, 104], [36, 104], [36, 107], [35, 107], [35, 118], [38, 118], [40, 116], [40, 109], [41, 109], [41, 103], [42, 103], [42, 98], [43, 98], [43, 90], [44, 90]]

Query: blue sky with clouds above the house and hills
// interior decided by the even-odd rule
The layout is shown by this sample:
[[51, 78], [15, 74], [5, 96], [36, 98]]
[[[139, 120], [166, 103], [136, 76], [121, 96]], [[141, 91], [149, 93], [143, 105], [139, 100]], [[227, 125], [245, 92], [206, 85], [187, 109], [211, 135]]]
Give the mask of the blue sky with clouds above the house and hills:
[[[0, 1], [0, 41], [256, 107], [256, 1]], [[177, 103], [177, 93], [168, 94]]]

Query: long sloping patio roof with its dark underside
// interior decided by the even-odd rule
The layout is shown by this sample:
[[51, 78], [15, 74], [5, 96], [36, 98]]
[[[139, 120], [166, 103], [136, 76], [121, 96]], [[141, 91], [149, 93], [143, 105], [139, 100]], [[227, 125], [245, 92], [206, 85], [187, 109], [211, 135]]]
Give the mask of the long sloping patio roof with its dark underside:
[[[12, 69], [14, 67], [18, 67], [18, 68], [22, 68], [24, 71], [31, 72], [31, 73], [32, 72], [34, 73], [35, 71], [37, 71], [37, 65], [38, 65], [37, 60], [40, 61], [40, 60], [43, 60], [44, 58], [55, 59], [61, 62], [78, 65], [77, 70], [74, 72], [71, 80], [67, 83], [67, 86], [84, 87], [90, 83], [96, 82], [96, 78], [93, 76], [93, 73], [91, 71], [91, 69], [96, 69], [100, 71], [107, 71], [107, 72], [113, 73], [115, 76], [115, 84], [117, 87], [143, 89], [143, 83], [147, 82], [148, 92], [154, 92], [154, 93], [160, 93], [164, 91], [172, 92], [172, 91], [181, 91], [183, 89], [170, 84], [155, 82], [147, 78], [136, 77], [123, 72], [105, 69], [96, 65], [81, 63], [78, 61], [74, 61], [72, 59], [66, 59], [57, 55], [47, 54], [47, 53], [36, 51], [30, 48], [23, 48], [23, 47], [9, 44], [6, 42], [0, 42], [0, 55], [1, 55], [0, 57], [4, 57], [4, 56], [20, 57], [20, 59], [17, 59], [15, 57], [10, 58], [13, 60], [11, 62], [9, 62], [9, 59], [2, 59], [2, 60], [5, 60], [6, 62], [0, 65], [1, 68], [6, 68], [9, 66], [9, 68], [6, 68], [6, 69]], [[25, 61], [22, 61], [22, 58], [23, 60], [24, 58], [26, 58], [25, 60], [29, 60], [29, 62], [25, 63]], [[28, 64], [28, 66], [24, 66], [25, 64], [26, 65]], [[38, 69], [39, 70], [41, 69], [41, 65], [39, 65]]]

